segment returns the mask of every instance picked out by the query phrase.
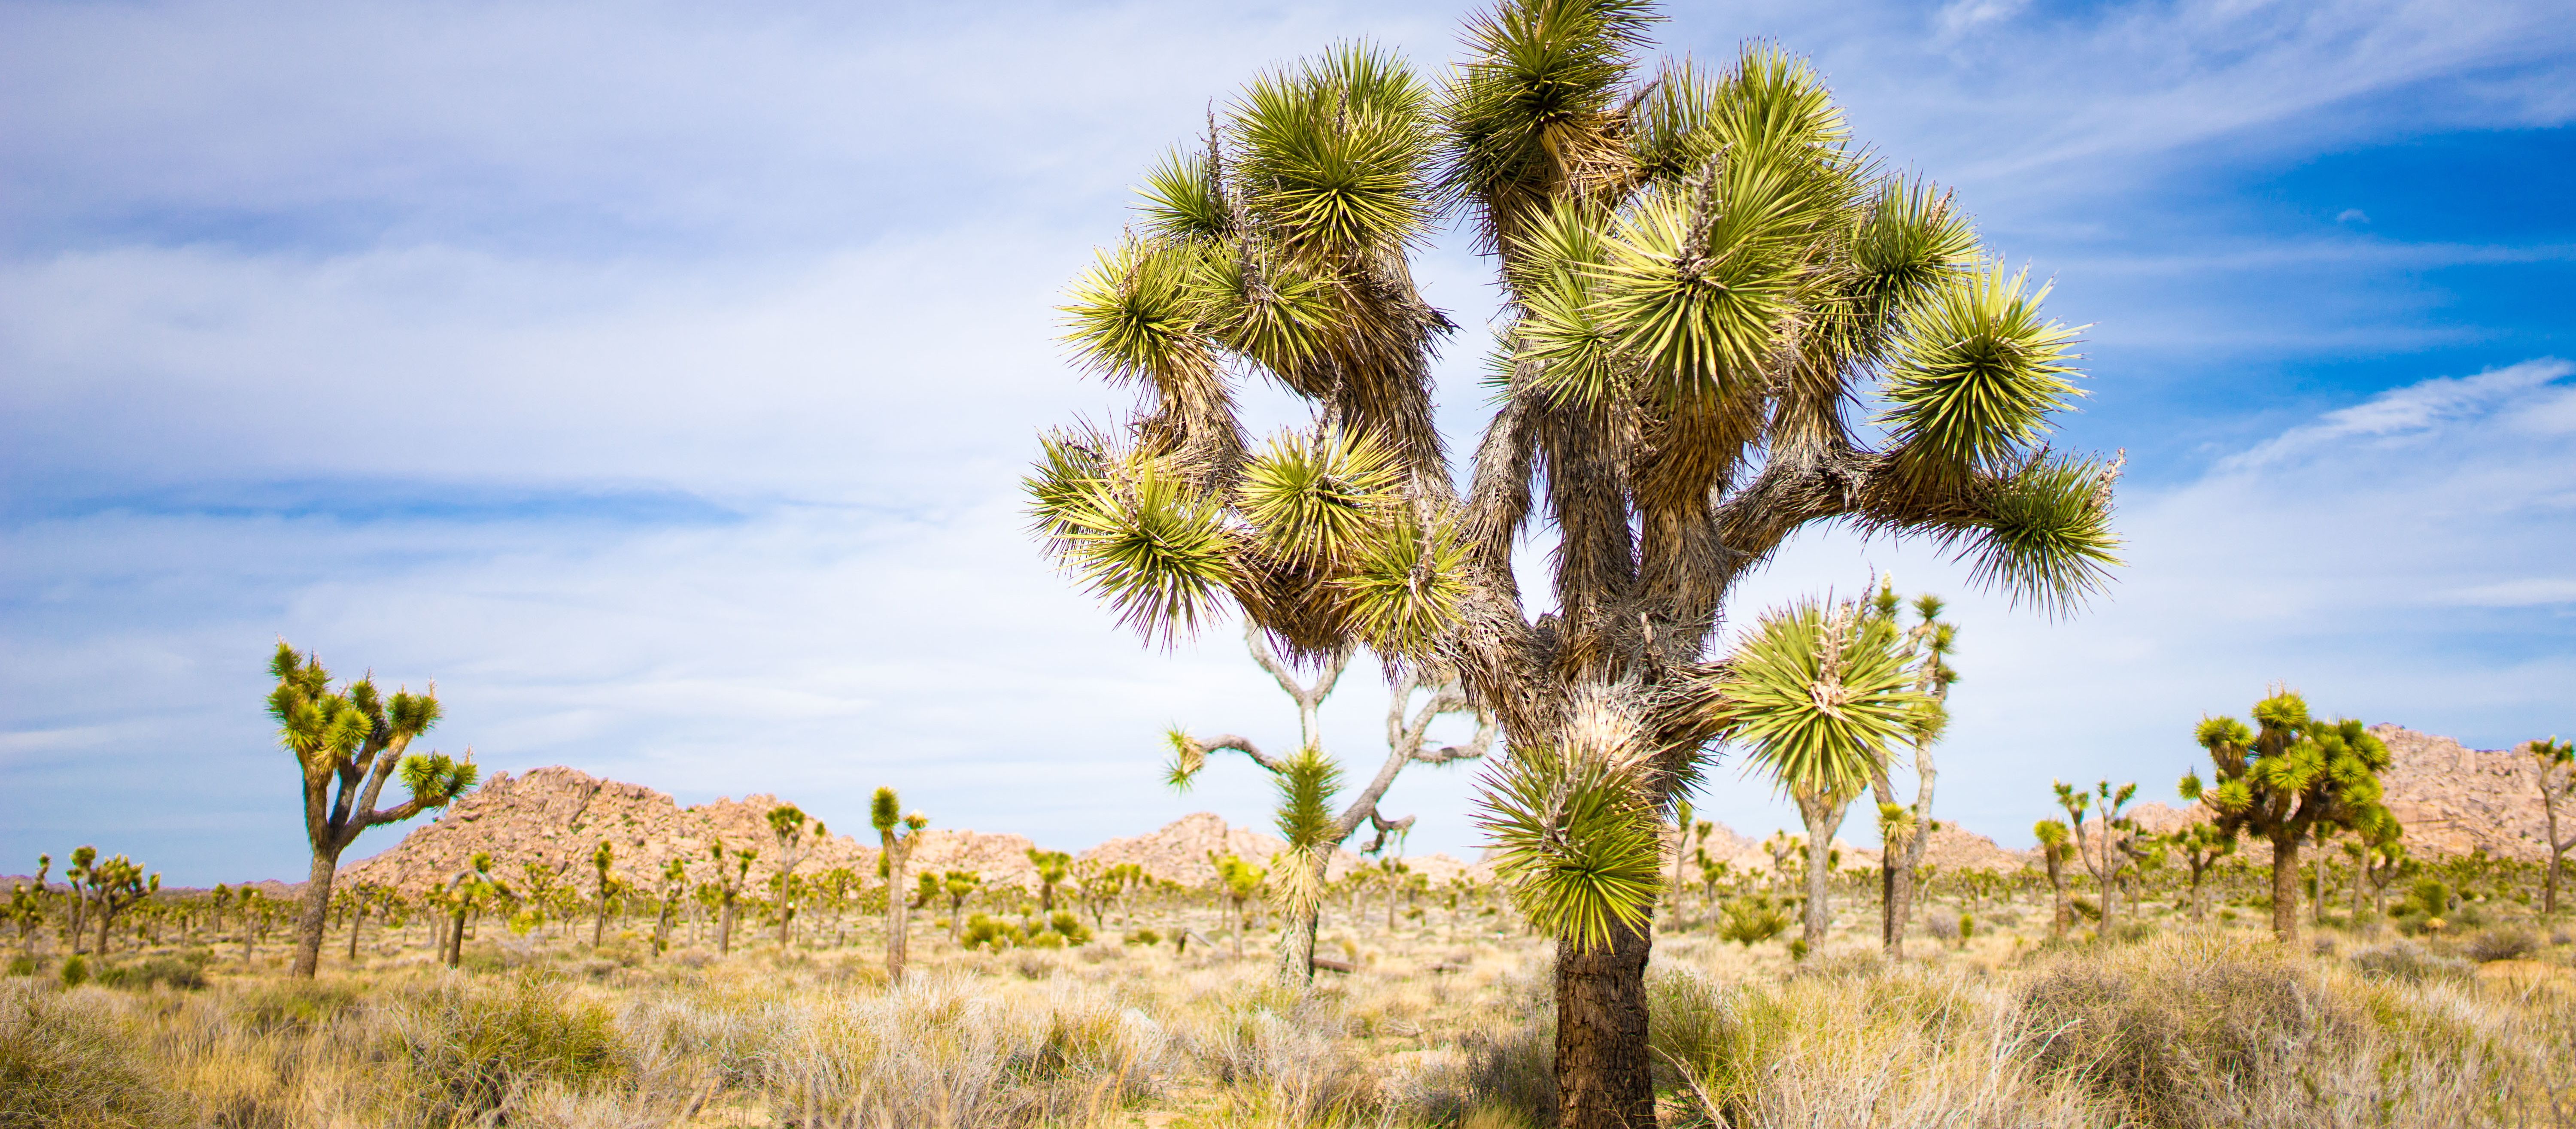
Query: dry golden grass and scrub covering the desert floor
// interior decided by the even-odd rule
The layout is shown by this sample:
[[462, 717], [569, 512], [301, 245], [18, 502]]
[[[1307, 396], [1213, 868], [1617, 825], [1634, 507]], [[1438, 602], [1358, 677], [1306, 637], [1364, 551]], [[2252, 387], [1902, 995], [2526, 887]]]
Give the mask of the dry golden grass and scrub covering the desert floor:
[[[1904, 961], [1878, 956], [1865, 876], [1837, 876], [1855, 902], [1803, 961], [1785, 931], [1721, 936], [1767, 884], [1695, 892], [1649, 969], [1659, 1116], [2576, 1124], [2576, 938], [2512, 892], [2424, 879], [2481, 925], [2365, 910], [2285, 949], [2259, 874], [2221, 882], [2208, 925], [2154, 874], [2110, 941], [2050, 941], [2027, 874], [1935, 876]], [[1548, 1124], [1548, 943], [1476, 900], [1422, 894], [1394, 928], [1376, 897], [1358, 907], [1329, 912], [1319, 946], [1358, 969], [1311, 992], [1278, 985], [1275, 920], [1244, 956], [1206, 943], [1231, 912], [1213, 889], [1146, 897], [1087, 943], [966, 949], [920, 920], [899, 987], [855, 931], [716, 956], [688, 928], [654, 954], [649, 918], [598, 946], [580, 918], [492, 918], [446, 969], [407, 923], [363, 933], [355, 961], [332, 946], [317, 979], [289, 974], [289, 936], [247, 961], [240, 943], [129, 946], [64, 977], [39, 933], [44, 954], [0, 979], [0, 1126]]]

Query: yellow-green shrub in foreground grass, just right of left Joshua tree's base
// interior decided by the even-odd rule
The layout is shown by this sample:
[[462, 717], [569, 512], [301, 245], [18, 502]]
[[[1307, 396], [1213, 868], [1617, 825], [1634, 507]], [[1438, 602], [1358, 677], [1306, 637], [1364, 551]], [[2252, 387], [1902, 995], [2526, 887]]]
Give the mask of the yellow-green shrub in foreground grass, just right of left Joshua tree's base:
[[531, 1085], [590, 1088], [626, 1075], [608, 1008], [538, 974], [428, 990], [394, 1008], [394, 1031], [430, 1124], [474, 1121]]

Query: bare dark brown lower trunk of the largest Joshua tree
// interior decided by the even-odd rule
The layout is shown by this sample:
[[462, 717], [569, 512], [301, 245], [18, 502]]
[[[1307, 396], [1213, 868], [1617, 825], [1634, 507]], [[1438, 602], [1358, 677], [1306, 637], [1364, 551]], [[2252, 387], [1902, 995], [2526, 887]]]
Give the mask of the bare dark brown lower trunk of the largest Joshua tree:
[[1654, 923], [1613, 923], [1610, 949], [1556, 943], [1556, 1124], [1654, 1129], [1646, 956]]

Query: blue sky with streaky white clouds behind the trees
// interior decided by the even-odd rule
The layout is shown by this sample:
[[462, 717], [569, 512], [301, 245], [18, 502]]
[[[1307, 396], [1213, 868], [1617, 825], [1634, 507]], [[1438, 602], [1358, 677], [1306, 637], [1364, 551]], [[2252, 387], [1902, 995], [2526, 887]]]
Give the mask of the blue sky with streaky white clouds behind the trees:
[[[258, 704], [283, 634], [438, 680], [430, 745], [683, 802], [1090, 845], [1170, 722], [1291, 740], [1216, 629], [1139, 647], [1020, 534], [1033, 433], [1121, 394], [1054, 343], [1128, 186], [1265, 64], [1455, 5], [0, 5], [0, 871], [301, 874]], [[2202, 711], [2576, 732], [2576, 26], [2543, 3], [1677, 5], [1672, 54], [1811, 54], [2089, 325], [2071, 449], [2125, 449], [2130, 567], [2043, 621], [1958, 601], [1940, 807], [2166, 794]], [[1422, 263], [1479, 327], [1463, 237]], [[1443, 423], [1479, 425], [1471, 330]], [[1275, 394], [1262, 420], [1291, 420]], [[1329, 745], [1383, 750], [1352, 675]], [[1414, 851], [1473, 848], [1473, 771]], [[1721, 768], [1703, 809], [1790, 820]], [[1855, 825], [1862, 820], [1855, 820]], [[358, 853], [397, 833], [376, 830]], [[1865, 838], [1865, 833], [1862, 833]]]

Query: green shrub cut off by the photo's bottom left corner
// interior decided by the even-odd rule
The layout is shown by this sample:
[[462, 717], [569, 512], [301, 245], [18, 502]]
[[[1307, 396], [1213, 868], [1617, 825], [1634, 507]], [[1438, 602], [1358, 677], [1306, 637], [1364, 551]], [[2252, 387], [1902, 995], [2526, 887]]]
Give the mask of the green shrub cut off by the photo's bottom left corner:
[[0, 990], [0, 1126], [185, 1126], [188, 1103], [144, 1072], [142, 1041], [95, 998]]

